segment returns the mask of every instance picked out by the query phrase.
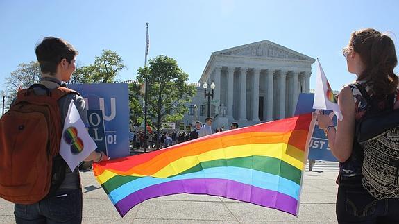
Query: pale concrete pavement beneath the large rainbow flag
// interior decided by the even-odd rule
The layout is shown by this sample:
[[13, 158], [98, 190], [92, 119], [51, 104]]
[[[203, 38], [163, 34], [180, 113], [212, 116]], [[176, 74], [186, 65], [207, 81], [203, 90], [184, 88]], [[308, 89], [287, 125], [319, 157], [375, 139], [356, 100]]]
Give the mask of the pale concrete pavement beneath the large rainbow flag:
[[[316, 161], [303, 180], [299, 217], [217, 196], [180, 194], [146, 200], [121, 218], [92, 171], [81, 173], [83, 223], [337, 223], [338, 163]], [[0, 223], [15, 223], [13, 205], [0, 199]]]

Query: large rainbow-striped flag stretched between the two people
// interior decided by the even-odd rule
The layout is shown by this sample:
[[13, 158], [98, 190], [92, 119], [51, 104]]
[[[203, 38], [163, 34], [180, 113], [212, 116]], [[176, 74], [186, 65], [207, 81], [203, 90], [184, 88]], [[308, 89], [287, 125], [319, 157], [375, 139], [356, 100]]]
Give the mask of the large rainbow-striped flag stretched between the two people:
[[311, 123], [312, 114], [302, 114], [219, 132], [94, 164], [94, 175], [121, 216], [144, 200], [176, 193], [223, 196], [297, 216]]

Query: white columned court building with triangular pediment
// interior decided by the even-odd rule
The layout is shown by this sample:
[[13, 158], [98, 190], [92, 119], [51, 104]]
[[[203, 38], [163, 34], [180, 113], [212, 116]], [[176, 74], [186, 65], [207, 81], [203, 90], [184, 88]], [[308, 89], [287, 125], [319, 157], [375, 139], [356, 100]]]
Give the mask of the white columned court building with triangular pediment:
[[[198, 83], [197, 94], [187, 103], [189, 112], [183, 121], [204, 123], [207, 98], [203, 83], [214, 82], [210, 115], [212, 128], [228, 129], [273, 121], [294, 114], [299, 93], [309, 92], [313, 58], [269, 40], [236, 46], [212, 53]], [[185, 122], [185, 123], [186, 123]]]

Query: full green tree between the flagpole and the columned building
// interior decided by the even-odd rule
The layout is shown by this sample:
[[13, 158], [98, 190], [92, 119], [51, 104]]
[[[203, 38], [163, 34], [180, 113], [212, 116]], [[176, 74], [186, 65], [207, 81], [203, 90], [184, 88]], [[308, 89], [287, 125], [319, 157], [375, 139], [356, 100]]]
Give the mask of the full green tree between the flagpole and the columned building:
[[148, 79], [148, 123], [159, 135], [161, 121], [182, 119], [187, 112], [185, 103], [196, 94], [196, 89], [187, 85], [188, 74], [178, 67], [177, 61], [165, 55], [151, 59], [149, 67], [139, 68], [137, 73], [139, 83], [144, 83], [145, 78]]

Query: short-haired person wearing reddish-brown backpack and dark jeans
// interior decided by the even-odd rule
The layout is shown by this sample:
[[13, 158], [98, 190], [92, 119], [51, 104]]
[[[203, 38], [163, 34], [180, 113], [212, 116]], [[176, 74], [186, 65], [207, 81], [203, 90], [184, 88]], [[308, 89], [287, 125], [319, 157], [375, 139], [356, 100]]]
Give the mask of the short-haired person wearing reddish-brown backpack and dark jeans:
[[[61, 83], [69, 81], [75, 71], [78, 51], [65, 40], [45, 37], [36, 46], [35, 53], [42, 73], [40, 83], [20, 91], [8, 113], [1, 118], [0, 140], [6, 148], [0, 149], [0, 196], [15, 202], [14, 214], [17, 223], [81, 223], [83, 196], [78, 167], [71, 171], [59, 154], [62, 128], [71, 101], [74, 101], [83, 123], [88, 124], [85, 101], [78, 92], [67, 89]], [[48, 110], [44, 111], [48, 111], [48, 114], [32, 117], [33, 121], [15, 120], [14, 123], [10, 123], [13, 112], [18, 115], [17, 110], [27, 108], [25, 112], [32, 111], [32, 116], [36, 116], [35, 110], [42, 108], [42, 105], [46, 105]], [[17, 115], [15, 119], [20, 116]], [[37, 121], [47, 123], [46, 126], [37, 128], [38, 126], [33, 124], [35, 119], [42, 119]], [[17, 132], [14, 135], [14, 126], [5, 132], [4, 129], [8, 125], [16, 125], [16, 130], [22, 134], [26, 130], [26, 137], [21, 139], [22, 136], [19, 135], [22, 134]], [[40, 133], [47, 131], [49, 141], [33, 142], [40, 139], [38, 137]], [[19, 141], [15, 142], [21, 144], [19, 145], [21, 147], [8, 147], [11, 145], [9, 142], [12, 138], [19, 138]], [[7, 155], [7, 150], [15, 153], [15, 157], [6, 159], [4, 155]], [[4, 151], [6, 151], [5, 154]], [[104, 153], [93, 151], [85, 161], [100, 162], [108, 159]], [[18, 164], [18, 162], [23, 164]], [[12, 166], [12, 163], [17, 166]], [[42, 177], [44, 173], [49, 173], [49, 175]], [[19, 186], [16, 182], [23, 175], [26, 175], [28, 179], [21, 180], [22, 184]], [[37, 180], [31, 180], [31, 177]], [[10, 178], [13, 180], [9, 180]], [[24, 186], [24, 181], [28, 183], [32, 181], [35, 184]], [[15, 187], [7, 188], [8, 183], [15, 184]], [[37, 189], [37, 186], [42, 187]], [[30, 192], [33, 190], [35, 190], [34, 193]], [[26, 193], [26, 196], [17, 196], [17, 193]]]

